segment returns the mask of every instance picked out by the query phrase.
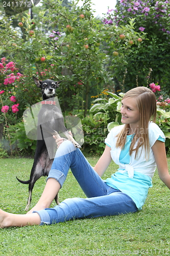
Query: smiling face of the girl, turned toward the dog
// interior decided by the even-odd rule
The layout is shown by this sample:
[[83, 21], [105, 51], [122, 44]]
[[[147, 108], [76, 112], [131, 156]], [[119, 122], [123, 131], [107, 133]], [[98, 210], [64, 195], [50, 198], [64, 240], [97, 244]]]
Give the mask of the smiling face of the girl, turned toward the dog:
[[123, 99], [120, 113], [122, 114], [122, 123], [130, 124], [130, 127], [133, 129], [138, 127], [139, 111], [137, 109], [135, 98], [127, 97]]

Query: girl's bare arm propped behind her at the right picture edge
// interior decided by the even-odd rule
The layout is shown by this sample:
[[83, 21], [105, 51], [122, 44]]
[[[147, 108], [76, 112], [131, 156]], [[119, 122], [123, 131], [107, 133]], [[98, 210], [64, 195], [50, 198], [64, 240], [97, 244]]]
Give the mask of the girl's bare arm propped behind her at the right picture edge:
[[157, 140], [152, 146], [152, 150], [157, 164], [159, 178], [170, 189], [170, 175], [167, 167], [165, 143]]

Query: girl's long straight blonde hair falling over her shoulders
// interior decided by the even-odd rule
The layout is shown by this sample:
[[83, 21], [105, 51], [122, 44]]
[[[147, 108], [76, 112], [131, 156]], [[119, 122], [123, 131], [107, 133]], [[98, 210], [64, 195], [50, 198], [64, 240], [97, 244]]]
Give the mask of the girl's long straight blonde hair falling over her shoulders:
[[[156, 121], [157, 107], [156, 107], [156, 97], [155, 94], [147, 87], [137, 87], [128, 91], [123, 99], [125, 98], [135, 98], [137, 109], [139, 111], [139, 126], [135, 135], [132, 139], [130, 145], [129, 154], [135, 151], [135, 158], [137, 157], [139, 147], [144, 147], [145, 150], [145, 158], [149, 159], [150, 153], [150, 143], [149, 143], [149, 134], [148, 134], [148, 125], [150, 121]], [[130, 131], [130, 125], [125, 124], [123, 130], [117, 135], [116, 147], [123, 148], [126, 143], [126, 138], [128, 132]], [[136, 147], [134, 145], [137, 142]]]

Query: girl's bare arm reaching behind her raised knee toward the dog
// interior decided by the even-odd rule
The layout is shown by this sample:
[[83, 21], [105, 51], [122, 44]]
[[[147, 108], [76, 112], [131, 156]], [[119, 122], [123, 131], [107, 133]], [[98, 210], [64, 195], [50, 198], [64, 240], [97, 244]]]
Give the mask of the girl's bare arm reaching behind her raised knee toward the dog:
[[101, 177], [105, 173], [107, 167], [109, 166], [112, 160], [110, 151], [111, 151], [111, 148], [106, 145], [103, 155], [100, 157], [99, 161], [94, 166], [95, 172], [98, 173], [99, 176]]

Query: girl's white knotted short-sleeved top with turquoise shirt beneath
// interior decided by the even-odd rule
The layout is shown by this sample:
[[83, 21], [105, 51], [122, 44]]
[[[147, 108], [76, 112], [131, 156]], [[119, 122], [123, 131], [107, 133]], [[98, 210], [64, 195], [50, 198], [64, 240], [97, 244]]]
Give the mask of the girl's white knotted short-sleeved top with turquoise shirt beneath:
[[148, 196], [148, 189], [152, 187], [152, 177], [156, 169], [155, 158], [151, 147], [157, 139], [162, 138], [161, 140], [165, 140], [165, 136], [157, 124], [149, 123], [149, 160], [145, 160], [145, 152], [144, 150], [141, 152], [141, 148], [139, 148], [137, 159], [135, 159], [135, 152], [133, 152], [131, 156], [125, 157], [129, 162], [122, 163], [122, 159], [119, 159], [122, 150], [121, 148], [116, 148], [115, 145], [117, 140], [116, 135], [123, 129], [123, 126], [114, 127], [105, 139], [105, 143], [111, 147], [110, 153], [113, 161], [119, 165], [118, 172], [114, 173], [111, 178], [107, 178], [105, 182], [107, 185], [119, 189], [131, 197], [136, 207], [140, 210]]

